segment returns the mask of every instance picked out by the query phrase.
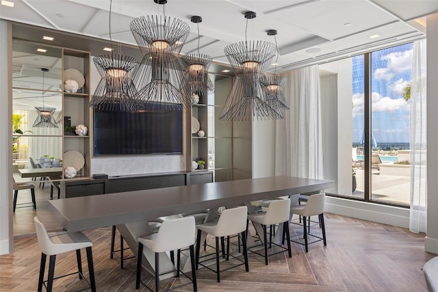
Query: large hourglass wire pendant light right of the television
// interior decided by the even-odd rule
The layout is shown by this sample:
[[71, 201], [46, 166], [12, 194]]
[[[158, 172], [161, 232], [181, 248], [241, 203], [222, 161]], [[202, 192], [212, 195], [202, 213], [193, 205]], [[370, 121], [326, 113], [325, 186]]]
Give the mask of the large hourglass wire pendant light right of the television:
[[[244, 16], [247, 30], [248, 19], [254, 19], [256, 14], [245, 12]], [[259, 82], [267, 64], [275, 56], [275, 45], [263, 40], [247, 40], [245, 31], [245, 40], [228, 45], [224, 52], [236, 78], [219, 119], [281, 119], [281, 115], [263, 100], [263, 90]]]

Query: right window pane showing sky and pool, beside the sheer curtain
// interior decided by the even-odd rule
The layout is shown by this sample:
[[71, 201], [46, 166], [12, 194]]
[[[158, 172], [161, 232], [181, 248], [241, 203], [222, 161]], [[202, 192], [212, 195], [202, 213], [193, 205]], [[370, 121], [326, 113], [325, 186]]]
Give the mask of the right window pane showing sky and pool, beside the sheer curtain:
[[371, 53], [372, 197], [409, 205], [409, 101], [413, 44]]

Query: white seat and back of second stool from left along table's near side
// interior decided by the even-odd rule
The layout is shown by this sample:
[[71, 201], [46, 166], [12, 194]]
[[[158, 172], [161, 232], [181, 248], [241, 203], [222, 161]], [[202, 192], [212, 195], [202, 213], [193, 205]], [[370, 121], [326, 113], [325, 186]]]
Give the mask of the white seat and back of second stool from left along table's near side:
[[247, 216], [248, 208], [246, 206], [226, 209], [220, 215], [217, 223], [207, 222], [196, 227], [198, 230], [216, 237], [229, 236], [246, 230]]

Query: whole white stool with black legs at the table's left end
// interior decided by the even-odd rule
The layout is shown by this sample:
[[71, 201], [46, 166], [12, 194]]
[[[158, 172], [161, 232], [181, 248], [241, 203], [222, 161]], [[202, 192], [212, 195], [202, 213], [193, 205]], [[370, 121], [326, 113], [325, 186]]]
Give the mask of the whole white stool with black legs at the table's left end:
[[[94, 280], [94, 268], [93, 268], [93, 256], [92, 256], [92, 242], [87, 236], [81, 232], [47, 232], [44, 225], [38, 219], [34, 217], [36, 237], [38, 238], [38, 245], [41, 250], [41, 264], [40, 264], [40, 276], [38, 278], [38, 291], [42, 291], [42, 285], [47, 288], [47, 291], [52, 291], [53, 280], [79, 274], [79, 279], [83, 279], [90, 286], [91, 291], [96, 291], [96, 281]], [[81, 249], [85, 248], [87, 251], [88, 272], [90, 274], [90, 282], [83, 277], [82, 274], [82, 262], [81, 262]], [[64, 252], [76, 251], [77, 269], [75, 273], [68, 273], [64, 276], [54, 278], [55, 273], [55, 260], [57, 254]], [[47, 256], [50, 256], [49, 261], [49, 276], [44, 281], [44, 269], [46, 266]], [[47, 286], [46, 286], [47, 282]]]

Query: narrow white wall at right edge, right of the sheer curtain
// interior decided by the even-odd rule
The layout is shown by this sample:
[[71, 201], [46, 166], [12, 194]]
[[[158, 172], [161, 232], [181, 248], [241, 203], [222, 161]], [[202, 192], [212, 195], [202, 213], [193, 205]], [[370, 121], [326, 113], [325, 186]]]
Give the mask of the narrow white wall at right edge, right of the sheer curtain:
[[438, 254], [438, 14], [427, 16], [427, 238]]

